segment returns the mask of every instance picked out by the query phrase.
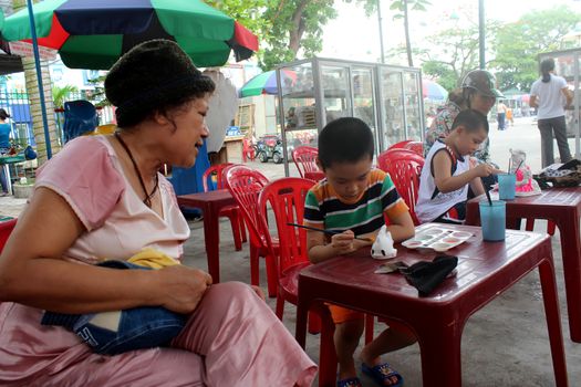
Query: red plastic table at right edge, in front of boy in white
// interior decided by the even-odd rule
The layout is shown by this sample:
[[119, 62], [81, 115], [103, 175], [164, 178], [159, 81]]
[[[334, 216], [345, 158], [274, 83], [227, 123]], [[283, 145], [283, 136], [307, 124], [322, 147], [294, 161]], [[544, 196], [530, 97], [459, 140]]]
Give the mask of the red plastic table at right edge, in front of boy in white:
[[[466, 224], [479, 224], [480, 212], [475, 198], [468, 201]], [[533, 218], [552, 220], [561, 233], [567, 311], [571, 339], [581, 343], [581, 241], [579, 218], [581, 217], [581, 187], [551, 188], [541, 195], [517, 197], [506, 201], [507, 223], [515, 219]]]

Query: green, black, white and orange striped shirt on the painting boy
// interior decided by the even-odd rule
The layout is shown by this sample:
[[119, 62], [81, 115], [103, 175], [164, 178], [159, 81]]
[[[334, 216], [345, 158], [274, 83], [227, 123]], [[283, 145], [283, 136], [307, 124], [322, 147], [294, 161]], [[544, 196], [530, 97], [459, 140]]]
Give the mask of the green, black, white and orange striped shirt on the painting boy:
[[372, 169], [367, 189], [353, 202], [339, 199], [326, 179], [311, 188], [304, 201], [304, 223], [339, 232], [352, 230], [360, 236], [385, 224], [384, 212], [393, 218], [408, 210], [390, 175]]

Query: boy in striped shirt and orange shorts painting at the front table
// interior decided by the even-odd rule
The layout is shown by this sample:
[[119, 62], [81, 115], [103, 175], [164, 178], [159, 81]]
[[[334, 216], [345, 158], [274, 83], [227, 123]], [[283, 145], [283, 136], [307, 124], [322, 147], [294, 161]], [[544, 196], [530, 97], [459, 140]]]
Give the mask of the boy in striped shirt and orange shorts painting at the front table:
[[[328, 239], [322, 232], [308, 231], [309, 259], [313, 263], [346, 254], [372, 242], [390, 219], [387, 230], [394, 241], [414, 236], [414, 222], [400, 198], [390, 175], [373, 168], [373, 134], [359, 118], [345, 117], [329, 123], [319, 135], [319, 168], [325, 179], [307, 195], [307, 226], [339, 231]], [[335, 323], [335, 351], [339, 360], [339, 387], [361, 386], [353, 354], [364, 327], [364, 315], [344, 307], [329, 305]], [[392, 323], [390, 323], [392, 325]], [[393, 324], [361, 352], [362, 370], [381, 386], [401, 386], [402, 376], [382, 363], [380, 356], [415, 343], [403, 325]]]

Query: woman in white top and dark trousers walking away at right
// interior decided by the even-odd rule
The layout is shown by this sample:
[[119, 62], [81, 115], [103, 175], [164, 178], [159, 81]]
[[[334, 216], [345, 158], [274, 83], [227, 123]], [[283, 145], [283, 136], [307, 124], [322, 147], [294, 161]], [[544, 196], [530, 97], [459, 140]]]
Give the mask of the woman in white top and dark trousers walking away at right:
[[571, 160], [571, 150], [567, 143], [564, 109], [573, 101], [562, 76], [554, 75], [554, 60], [541, 62], [541, 77], [535, 81], [530, 90], [530, 106], [537, 108], [537, 125], [541, 133], [542, 167], [554, 164], [552, 137], [557, 138], [561, 163]]

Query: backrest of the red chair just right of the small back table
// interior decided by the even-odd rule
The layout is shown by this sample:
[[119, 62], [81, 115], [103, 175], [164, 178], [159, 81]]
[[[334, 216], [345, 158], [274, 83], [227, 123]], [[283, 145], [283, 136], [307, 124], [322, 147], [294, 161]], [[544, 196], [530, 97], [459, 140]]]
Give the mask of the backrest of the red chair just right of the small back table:
[[264, 175], [241, 165], [231, 166], [226, 170], [226, 188], [242, 212], [250, 238], [261, 245], [264, 245], [262, 239], [264, 231], [258, 210], [258, 196], [267, 184], [268, 179]]

